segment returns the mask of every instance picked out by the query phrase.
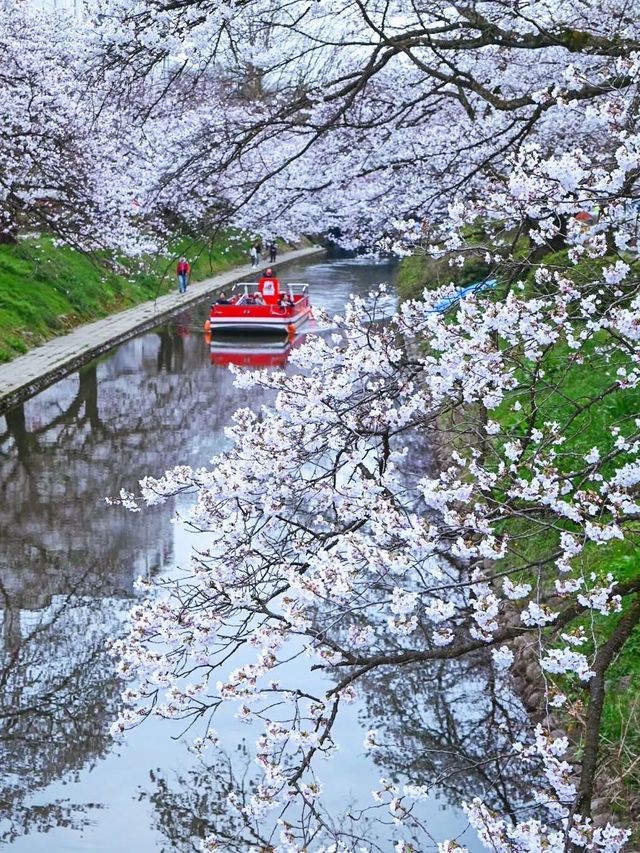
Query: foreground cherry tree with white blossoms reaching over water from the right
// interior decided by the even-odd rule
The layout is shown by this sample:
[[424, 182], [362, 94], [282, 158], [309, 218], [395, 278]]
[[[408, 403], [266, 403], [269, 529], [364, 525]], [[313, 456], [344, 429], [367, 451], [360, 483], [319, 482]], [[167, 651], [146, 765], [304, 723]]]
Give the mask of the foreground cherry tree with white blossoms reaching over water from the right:
[[[543, 721], [504, 758], [515, 754], [527, 774], [542, 765], [535, 801], [546, 817], [511, 824], [473, 800], [470, 820], [493, 849], [622, 847], [626, 832], [594, 827], [589, 813], [605, 678], [640, 618], [640, 580], [589, 565], [598, 549], [633, 536], [637, 419], [612, 421], [607, 446], [582, 455], [567, 442], [606, 397], [635, 399], [638, 335], [622, 297], [596, 321], [594, 299], [565, 282], [547, 297], [470, 299], [455, 318], [413, 303], [376, 331], [355, 302], [345, 337], [317, 337], [296, 354], [300, 373], [238, 376], [277, 396], [260, 414], [236, 414], [233, 448], [210, 471], [182, 467], [142, 482], [151, 504], [194, 489], [186, 520], [212, 535], [188, 575], [136, 607], [130, 636], [114, 644], [121, 671], [136, 677], [115, 730], [148, 713], [201, 719], [200, 751], [216, 748], [211, 726], [225, 704], [258, 721], [259, 786], [229, 800], [248, 843], [274, 843], [273, 809], [278, 849], [303, 849], [327, 830], [315, 765], [335, 750], [336, 720], [372, 672], [485, 648], [504, 667], [510, 643], [525, 636], [539, 648], [546, 715], [588, 697], [581, 773], [572, 778], [566, 738]], [[427, 353], [407, 354], [399, 334], [426, 341]], [[580, 360], [615, 367], [609, 386], [575, 400], [562, 424], [542, 414], [544, 398], [565, 393], [541, 367], [552, 347], [568, 349], [561, 374]], [[416, 471], [408, 442], [446, 434], [449, 413], [467, 451], [454, 451], [439, 476]], [[548, 553], [527, 560], [527, 540], [542, 534]], [[309, 673], [290, 682], [294, 658], [308, 660]], [[366, 747], [379, 738], [372, 730]], [[422, 789], [384, 781], [375, 796], [405, 849], [421, 830]], [[218, 843], [212, 836], [203, 849]], [[336, 830], [323, 843], [352, 849], [350, 833]]]

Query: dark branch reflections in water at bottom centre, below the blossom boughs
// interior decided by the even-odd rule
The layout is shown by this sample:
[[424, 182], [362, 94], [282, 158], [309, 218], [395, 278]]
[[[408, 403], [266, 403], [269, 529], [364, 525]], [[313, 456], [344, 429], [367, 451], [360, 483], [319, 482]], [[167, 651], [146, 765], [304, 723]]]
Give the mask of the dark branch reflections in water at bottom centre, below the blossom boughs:
[[[513, 753], [513, 743], [523, 738], [529, 722], [517, 698], [496, 680], [488, 657], [477, 654], [429, 668], [407, 666], [400, 672], [379, 670], [362, 687], [363, 722], [377, 730], [381, 744], [373, 752], [381, 775], [400, 785], [409, 780], [424, 785], [435, 799], [456, 806], [481, 796], [490, 807], [513, 816], [521, 817], [522, 809], [531, 807], [535, 780], [522, 777]], [[249, 826], [226, 803], [231, 791], [240, 803], [248, 801], [255, 790], [252, 775], [257, 773], [254, 768], [252, 774], [244, 747], [231, 757], [217, 753], [172, 782], [153, 774], [149, 799], [166, 850], [197, 850], [198, 840], [209, 834], [220, 840], [221, 849], [247, 853], [259, 841], [269, 849], [272, 839], [252, 837]], [[390, 849], [384, 843], [388, 814], [376, 811], [368, 790], [350, 809], [345, 803], [348, 816], [327, 814], [321, 802], [318, 809], [329, 835], [333, 822], [336, 837], [345, 833], [345, 842], [357, 839], [367, 849], [377, 850], [377, 844]], [[267, 825], [261, 823], [263, 831]], [[424, 848], [426, 831], [416, 830], [416, 838], [422, 839], [416, 849]], [[349, 849], [358, 849], [358, 844]]]

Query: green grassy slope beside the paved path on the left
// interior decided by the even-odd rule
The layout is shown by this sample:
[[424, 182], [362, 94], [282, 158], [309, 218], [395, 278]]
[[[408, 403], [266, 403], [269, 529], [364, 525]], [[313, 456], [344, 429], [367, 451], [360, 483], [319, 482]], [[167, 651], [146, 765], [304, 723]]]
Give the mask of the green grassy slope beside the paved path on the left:
[[248, 260], [250, 240], [230, 234], [213, 244], [176, 241], [167, 256], [91, 258], [49, 237], [0, 246], [0, 362], [82, 323], [130, 308], [176, 287], [184, 254], [201, 281]]

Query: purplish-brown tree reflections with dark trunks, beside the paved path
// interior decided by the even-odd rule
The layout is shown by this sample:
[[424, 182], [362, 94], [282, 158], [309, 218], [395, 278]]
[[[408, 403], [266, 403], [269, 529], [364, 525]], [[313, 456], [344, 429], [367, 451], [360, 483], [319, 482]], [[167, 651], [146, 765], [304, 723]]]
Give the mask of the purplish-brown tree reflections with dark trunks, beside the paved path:
[[155, 335], [131, 341], [14, 408], [0, 425], [0, 579], [18, 608], [38, 609], [64, 594], [87, 564], [102, 563], [111, 590], [126, 590], [141, 569], [169, 556], [170, 508], [135, 518], [104, 497], [184, 461], [193, 435], [209, 435], [212, 422], [228, 417], [230, 405], [217, 406], [216, 398], [233, 388], [195, 336], [180, 360], [185, 373], [167, 372], [166, 352], [159, 373], [156, 355], [167, 339], [171, 370], [178, 369], [175, 353], [185, 342], [165, 328], [160, 346]]

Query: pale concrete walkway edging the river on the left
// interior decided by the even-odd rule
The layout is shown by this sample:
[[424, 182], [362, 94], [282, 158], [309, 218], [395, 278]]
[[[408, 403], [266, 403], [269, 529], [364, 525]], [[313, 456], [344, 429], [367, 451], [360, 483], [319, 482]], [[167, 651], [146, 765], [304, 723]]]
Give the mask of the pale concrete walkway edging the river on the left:
[[[269, 264], [269, 266], [275, 269], [280, 269], [293, 261], [297, 261], [302, 258], [316, 257], [325, 253], [326, 249], [321, 246], [313, 246], [306, 249], [295, 249], [292, 252], [283, 254], [275, 263]], [[263, 266], [265, 266], [265, 264], [261, 264], [261, 267]], [[18, 405], [19, 403], [28, 400], [30, 397], [33, 397], [40, 391], [43, 391], [49, 385], [53, 385], [54, 382], [63, 379], [70, 373], [74, 373], [85, 364], [93, 361], [94, 358], [103, 355], [105, 352], [109, 352], [109, 350], [119, 346], [136, 335], [149, 331], [149, 329], [153, 329], [155, 326], [160, 325], [160, 323], [171, 319], [171, 317], [175, 317], [177, 314], [182, 313], [186, 307], [206, 299], [209, 294], [215, 293], [223, 287], [237, 284], [239, 281], [247, 278], [248, 275], [251, 275], [252, 272], [254, 272], [254, 270], [249, 264], [242, 267], [235, 267], [234, 269], [219, 273], [212, 278], [204, 279], [203, 281], [190, 285], [191, 293], [188, 296], [186, 296], [186, 294], [184, 295], [184, 298], [176, 296], [175, 301], [171, 300], [171, 304], [165, 308], [158, 308], [158, 300], [154, 299], [148, 302], [143, 302], [133, 308], [128, 308], [126, 311], [122, 311], [118, 314], [109, 315], [111, 319], [120, 318], [120, 320], [124, 321], [126, 316], [129, 314], [131, 322], [126, 329], [123, 329], [122, 332], [111, 335], [107, 340], [101, 341], [96, 346], [85, 346], [83, 347], [82, 352], [78, 352], [77, 348], [70, 346], [68, 356], [63, 356], [59, 364], [57, 364], [52, 370], [46, 371], [37, 379], [27, 379], [24, 383], [17, 385], [10, 391], [4, 393], [0, 391], [0, 415], [3, 415], [13, 406]], [[171, 296], [171, 294], [167, 295]], [[162, 299], [164, 297], [160, 298]], [[148, 312], [150, 308], [153, 308], [153, 314], [151, 316], [147, 316], [144, 319], [141, 316], [136, 317], [136, 314], [142, 315], [145, 312]], [[101, 326], [103, 323], [104, 320], [86, 323], [83, 326], [76, 327], [69, 334], [71, 335], [74, 332], [85, 331], [87, 336], [90, 337], [92, 334], [92, 327]], [[65, 336], [63, 335], [53, 338], [52, 340], [61, 341], [64, 337]], [[43, 344], [43, 346], [46, 346], [46, 344]], [[19, 373], [21, 364], [24, 365], [30, 355], [41, 349], [41, 347], [36, 347], [24, 355], [13, 359], [4, 366], [15, 366], [16, 372]]]

